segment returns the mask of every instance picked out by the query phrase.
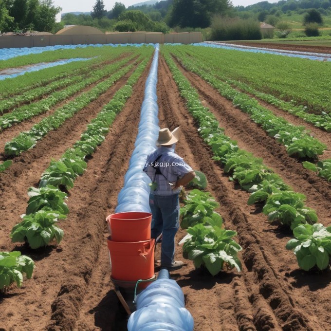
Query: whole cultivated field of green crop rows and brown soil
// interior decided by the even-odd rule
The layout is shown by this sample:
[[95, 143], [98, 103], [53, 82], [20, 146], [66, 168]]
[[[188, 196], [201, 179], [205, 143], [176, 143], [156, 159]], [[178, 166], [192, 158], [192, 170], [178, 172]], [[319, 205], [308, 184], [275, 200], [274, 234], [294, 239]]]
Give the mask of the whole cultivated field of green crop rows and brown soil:
[[[110, 281], [105, 219], [129, 167], [153, 52], [151, 46], [87, 48], [1, 62], [7, 69], [91, 58], [1, 82], [0, 251], [20, 251], [35, 261], [35, 270], [20, 288], [13, 284], [0, 294], [0, 330], [127, 330]], [[317, 252], [317, 265], [309, 267], [285, 248], [296, 225], [331, 223], [330, 77], [330, 62], [161, 46], [159, 126], [181, 127], [177, 153], [205, 174], [223, 227], [237, 232], [242, 247], [241, 272], [224, 268], [216, 276], [195, 269], [183, 246], [176, 247], [184, 267], [171, 276], [195, 331], [331, 330], [330, 246], [324, 260]], [[72, 147], [84, 151], [83, 161], [74, 156], [81, 169], [75, 176], [55, 164], [73, 157]], [[49, 180], [52, 160], [63, 176], [53, 184], [68, 196], [68, 212], [57, 206], [67, 214], [57, 222], [63, 240], [37, 249], [12, 242], [29, 187]], [[257, 197], [254, 185], [271, 192]], [[280, 202], [291, 199], [273, 202], [276, 194]], [[274, 219], [266, 212], [272, 203]], [[176, 242], [186, 233], [180, 229]]]

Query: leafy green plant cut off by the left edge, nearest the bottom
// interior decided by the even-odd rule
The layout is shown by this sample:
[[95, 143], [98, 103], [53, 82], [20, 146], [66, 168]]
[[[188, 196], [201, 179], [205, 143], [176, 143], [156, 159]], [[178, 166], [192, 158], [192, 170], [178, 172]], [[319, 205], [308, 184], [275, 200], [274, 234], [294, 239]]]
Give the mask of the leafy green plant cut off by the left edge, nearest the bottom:
[[34, 267], [34, 261], [18, 251], [0, 252], [0, 290], [4, 290], [14, 282], [21, 287], [23, 273], [30, 279]]

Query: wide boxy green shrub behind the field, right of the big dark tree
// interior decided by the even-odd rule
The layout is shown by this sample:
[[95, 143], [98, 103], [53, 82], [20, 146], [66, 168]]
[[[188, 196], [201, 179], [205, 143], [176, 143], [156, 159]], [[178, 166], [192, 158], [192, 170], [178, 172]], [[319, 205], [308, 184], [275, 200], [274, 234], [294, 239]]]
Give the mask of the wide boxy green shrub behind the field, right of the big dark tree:
[[211, 40], [262, 39], [260, 24], [253, 19], [215, 16], [211, 24]]

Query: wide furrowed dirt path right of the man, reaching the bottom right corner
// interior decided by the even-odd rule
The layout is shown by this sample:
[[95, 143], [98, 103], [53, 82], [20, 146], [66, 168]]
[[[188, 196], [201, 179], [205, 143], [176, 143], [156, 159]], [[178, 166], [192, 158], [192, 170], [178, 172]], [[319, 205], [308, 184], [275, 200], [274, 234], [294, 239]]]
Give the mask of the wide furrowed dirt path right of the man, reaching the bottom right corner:
[[[202, 276], [192, 270], [190, 261], [173, 274], [187, 295], [186, 307], [195, 318], [195, 331], [220, 330], [220, 323], [222, 330], [327, 330], [330, 276], [299, 271], [293, 253], [285, 249], [290, 236], [269, 226], [263, 214], [246, 205], [248, 193], [234, 187], [211, 160], [212, 153], [200, 138], [170, 76], [162, 60], [159, 79], [164, 81], [161, 91], [165, 93], [159, 96], [159, 104], [164, 105], [160, 106], [161, 121], [170, 129], [181, 126], [178, 153], [206, 174], [208, 190], [221, 204], [225, 226], [238, 231], [243, 247], [244, 265], [239, 275]], [[180, 232], [178, 239], [183, 236]], [[176, 257], [182, 258], [180, 248]]]

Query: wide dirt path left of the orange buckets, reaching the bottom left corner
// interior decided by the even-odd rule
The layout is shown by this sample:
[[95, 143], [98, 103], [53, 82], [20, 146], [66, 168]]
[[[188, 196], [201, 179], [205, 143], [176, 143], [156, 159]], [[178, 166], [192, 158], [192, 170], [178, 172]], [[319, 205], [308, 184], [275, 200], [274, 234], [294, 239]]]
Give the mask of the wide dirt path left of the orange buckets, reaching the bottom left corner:
[[[93, 295], [94, 301], [98, 304], [99, 298], [107, 296], [107, 292], [111, 290], [110, 266], [105, 254], [107, 228], [104, 220], [114, 210], [117, 194], [123, 184], [121, 181], [129, 164], [137, 134], [146, 78], [147, 71], [136, 84], [125, 109], [116, 117], [105, 142], [88, 162], [86, 173], [75, 181], [68, 201], [70, 215], [67, 220], [61, 221], [61, 227], [65, 231], [61, 245], [51, 246], [45, 253], [31, 252], [24, 246], [20, 248], [34, 258], [36, 270], [33, 279], [26, 281], [21, 289], [13, 287], [10, 295], [0, 303], [0, 325], [4, 325], [5, 330], [45, 330], [47, 325], [49, 330], [73, 330], [81, 306], [82, 309], [89, 306]], [[118, 88], [119, 86], [114, 90]], [[102, 101], [105, 99], [99, 99], [100, 103]], [[52, 154], [54, 155], [53, 152]], [[36, 180], [42, 170], [44, 168], [35, 169]], [[34, 184], [34, 179], [31, 181], [30, 184]], [[22, 188], [22, 194], [26, 195], [25, 188]], [[18, 206], [18, 209], [14, 210], [13, 217], [16, 217], [16, 220], [21, 213], [19, 209], [24, 209], [26, 202], [23, 201], [21, 204], [21, 207]], [[5, 211], [1, 210], [1, 213]], [[4, 218], [1, 220], [4, 221]], [[8, 221], [10, 220], [1, 223], [7, 228]], [[8, 236], [8, 231], [5, 232]], [[8, 239], [5, 242], [8, 242]], [[8, 243], [1, 247], [4, 248], [12, 249], [14, 244]], [[91, 282], [88, 284], [90, 279]], [[104, 286], [100, 288], [100, 284]], [[84, 301], [84, 297], [87, 301]], [[104, 307], [102, 313], [107, 314], [108, 325], [117, 317], [118, 305], [115, 299], [117, 300], [113, 294], [110, 302], [114, 307], [112, 312], [109, 313], [109, 307]], [[88, 311], [93, 309], [93, 303], [91, 305]], [[97, 309], [97, 312], [100, 312], [100, 309]], [[84, 324], [83, 320], [79, 322]], [[89, 328], [86, 326], [79, 330]], [[91, 330], [95, 330], [94, 321]]]

